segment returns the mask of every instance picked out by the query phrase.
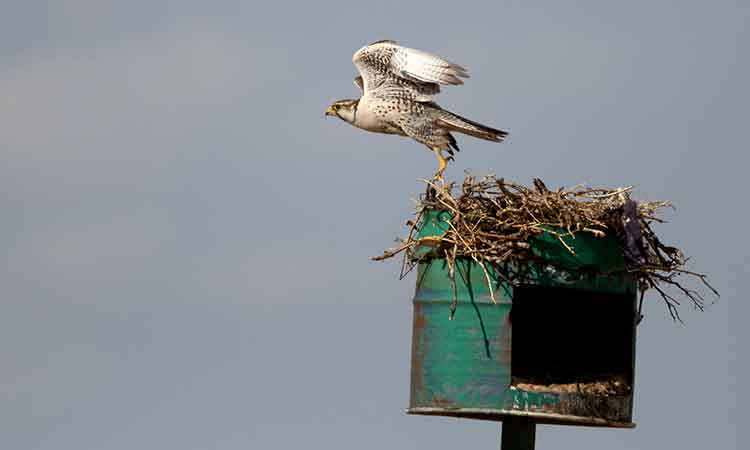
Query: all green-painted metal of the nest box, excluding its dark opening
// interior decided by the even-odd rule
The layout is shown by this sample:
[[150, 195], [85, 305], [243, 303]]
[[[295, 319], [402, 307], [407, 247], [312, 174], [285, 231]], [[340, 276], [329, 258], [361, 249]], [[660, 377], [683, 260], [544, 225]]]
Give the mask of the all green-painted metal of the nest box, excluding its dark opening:
[[[420, 236], [444, 233], [446, 212], [428, 211]], [[635, 301], [635, 284], [627, 274], [580, 275], [578, 270], [624, 269], [622, 253], [613, 238], [579, 235], [566, 243], [543, 234], [532, 243], [534, 251], [550, 265], [531, 267], [529, 283], [560, 289], [628, 293]], [[529, 392], [511, 383], [510, 312], [513, 287], [489, 271], [496, 304], [482, 268], [473, 261], [456, 262], [458, 306], [450, 320], [454, 288], [443, 259], [429, 258], [430, 249], [420, 249], [414, 295], [412, 339], [412, 385], [409, 412], [502, 420], [531, 415], [537, 422], [598, 426], [631, 426], [632, 393], [599, 398], [593, 394]], [[570, 271], [559, 270], [560, 266]], [[540, 311], [543, 314], [543, 311]]]

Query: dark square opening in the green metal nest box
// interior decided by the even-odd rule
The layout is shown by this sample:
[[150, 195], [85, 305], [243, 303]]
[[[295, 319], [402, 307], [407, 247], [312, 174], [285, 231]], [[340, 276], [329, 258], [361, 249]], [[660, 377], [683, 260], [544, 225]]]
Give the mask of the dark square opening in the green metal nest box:
[[516, 287], [512, 383], [529, 390], [626, 393], [634, 369], [632, 294]]

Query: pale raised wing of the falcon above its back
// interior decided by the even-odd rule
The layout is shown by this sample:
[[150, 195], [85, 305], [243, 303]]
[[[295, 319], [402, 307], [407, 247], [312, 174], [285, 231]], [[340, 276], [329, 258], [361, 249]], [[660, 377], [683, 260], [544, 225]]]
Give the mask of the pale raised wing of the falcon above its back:
[[[410, 90], [419, 96], [440, 92], [440, 85], [463, 84], [466, 69], [444, 58], [395, 41], [378, 41], [362, 47], [352, 58], [361, 75], [363, 92]], [[359, 78], [359, 77], [358, 77]], [[355, 79], [355, 83], [359, 85]]]

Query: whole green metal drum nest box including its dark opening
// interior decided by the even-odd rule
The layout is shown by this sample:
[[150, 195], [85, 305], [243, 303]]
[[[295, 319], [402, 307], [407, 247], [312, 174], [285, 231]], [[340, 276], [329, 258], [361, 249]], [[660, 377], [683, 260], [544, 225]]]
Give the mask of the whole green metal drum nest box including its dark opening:
[[[444, 230], [439, 212], [423, 235]], [[542, 235], [544, 261], [513, 287], [473, 261], [419, 263], [409, 414], [633, 427], [636, 286], [616, 239]], [[570, 270], [560, 270], [564, 267]], [[592, 275], [596, 268], [599, 275]], [[618, 275], [601, 273], [618, 272]]]

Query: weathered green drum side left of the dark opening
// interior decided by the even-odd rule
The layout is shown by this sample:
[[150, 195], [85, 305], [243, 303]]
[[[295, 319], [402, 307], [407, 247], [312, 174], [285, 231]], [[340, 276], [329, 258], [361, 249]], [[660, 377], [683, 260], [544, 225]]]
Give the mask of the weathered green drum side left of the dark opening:
[[[510, 383], [509, 298], [498, 292], [490, 301], [483, 273], [475, 266], [458, 269], [461, 302], [449, 319], [452, 287], [442, 283], [440, 264], [423, 265], [414, 300], [412, 406], [501, 407]], [[460, 278], [460, 277], [459, 277]]]

